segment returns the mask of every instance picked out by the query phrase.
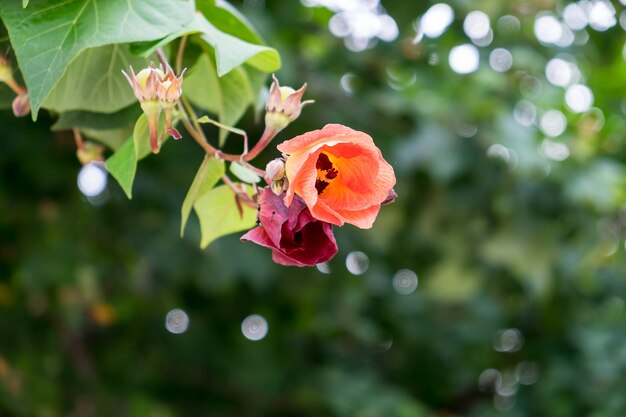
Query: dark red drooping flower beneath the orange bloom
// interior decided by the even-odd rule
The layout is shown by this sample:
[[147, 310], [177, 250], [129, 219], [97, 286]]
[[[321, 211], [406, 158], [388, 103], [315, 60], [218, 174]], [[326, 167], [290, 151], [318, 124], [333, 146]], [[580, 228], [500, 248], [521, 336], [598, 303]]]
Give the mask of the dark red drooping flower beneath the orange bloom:
[[272, 249], [272, 259], [281, 265], [313, 266], [335, 256], [337, 242], [332, 225], [315, 219], [299, 196], [289, 207], [285, 206], [284, 197], [269, 187], [261, 190], [261, 224], [241, 240]]

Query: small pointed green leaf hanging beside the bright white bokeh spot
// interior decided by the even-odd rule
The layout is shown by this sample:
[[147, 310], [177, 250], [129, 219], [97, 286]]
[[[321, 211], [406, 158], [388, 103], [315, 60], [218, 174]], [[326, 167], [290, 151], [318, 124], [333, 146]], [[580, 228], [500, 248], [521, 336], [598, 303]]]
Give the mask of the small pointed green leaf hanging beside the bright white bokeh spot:
[[[159, 121], [159, 136], [164, 130], [162, 119]], [[137, 162], [150, 153], [148, 120], [146, 115], [142, 114], [135, 123], [133, 135], [105, 162], [107, 170], [117, 180], [129, 199], [132, 198]]]

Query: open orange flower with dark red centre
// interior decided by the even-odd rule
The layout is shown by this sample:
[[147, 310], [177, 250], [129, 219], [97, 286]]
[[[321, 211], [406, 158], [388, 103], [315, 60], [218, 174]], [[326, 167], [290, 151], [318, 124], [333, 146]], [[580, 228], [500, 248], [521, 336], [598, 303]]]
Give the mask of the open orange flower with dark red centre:
[[321, 221], [372, 227], [396, 183], [393, 168], [366, 133], [331, 124], [278, 145], [288, 154], [285, 204], [297, 194]]

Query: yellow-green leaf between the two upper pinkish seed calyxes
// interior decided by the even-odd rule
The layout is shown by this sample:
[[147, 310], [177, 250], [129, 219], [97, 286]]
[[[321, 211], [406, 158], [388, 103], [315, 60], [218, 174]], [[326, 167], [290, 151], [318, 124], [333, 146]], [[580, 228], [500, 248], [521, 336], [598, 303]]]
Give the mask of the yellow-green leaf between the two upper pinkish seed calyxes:
[[[248, 106], [254, 104], [255, 95], [242, 68], [236, 68], [218, 78], [215, 64], [208, 54], [202, 54], [185, 79], [185, 95], [196, 106], [217, 115], [220, 123], [236, 124]], [[220, 146], [228, 131], [220, 131]]]

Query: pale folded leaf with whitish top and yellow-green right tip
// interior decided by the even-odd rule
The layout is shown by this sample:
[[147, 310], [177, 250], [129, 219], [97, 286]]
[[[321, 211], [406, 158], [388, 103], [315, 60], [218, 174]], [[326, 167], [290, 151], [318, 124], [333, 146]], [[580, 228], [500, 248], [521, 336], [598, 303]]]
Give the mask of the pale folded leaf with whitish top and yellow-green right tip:
[[138, 46], [133, 49], [133, 52], [147, 56], [172, 40], [189, 34], [199, 34], [202, 40], [213, 47], [217, 74], [220, 77], [243, 63], [250, 64], [264, 72], [274, 72], [280, 68], [280, 55], [274, 48], [247, 42], [224, 33], [201, 14], [196, 14], [187, 26], [177, 32], [171, 33], [160, 41], [144, 44], [143, 47]]

